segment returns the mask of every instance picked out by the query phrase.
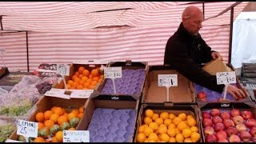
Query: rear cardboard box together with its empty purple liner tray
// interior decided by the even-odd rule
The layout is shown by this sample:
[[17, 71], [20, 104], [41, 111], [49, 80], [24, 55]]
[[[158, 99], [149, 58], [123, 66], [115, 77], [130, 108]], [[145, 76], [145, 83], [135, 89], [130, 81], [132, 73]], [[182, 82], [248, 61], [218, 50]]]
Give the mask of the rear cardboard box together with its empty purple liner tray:
[[114, 100], [139, 100], [148, 71], [147, 62], [110, 62], [109, 67], [122, 67], [122, 78], [115, 78], [117, 94], [114, 94], [113, 82], [105, 78], [97, 92], [98, 98]]

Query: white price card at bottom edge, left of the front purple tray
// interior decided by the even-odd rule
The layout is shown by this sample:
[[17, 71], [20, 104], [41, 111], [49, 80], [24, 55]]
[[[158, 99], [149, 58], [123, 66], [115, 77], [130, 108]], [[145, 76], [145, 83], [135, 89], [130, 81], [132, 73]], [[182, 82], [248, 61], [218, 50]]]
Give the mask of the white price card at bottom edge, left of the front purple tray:
[[63, 142], [90, 142], [89, 130], [63, 130]]

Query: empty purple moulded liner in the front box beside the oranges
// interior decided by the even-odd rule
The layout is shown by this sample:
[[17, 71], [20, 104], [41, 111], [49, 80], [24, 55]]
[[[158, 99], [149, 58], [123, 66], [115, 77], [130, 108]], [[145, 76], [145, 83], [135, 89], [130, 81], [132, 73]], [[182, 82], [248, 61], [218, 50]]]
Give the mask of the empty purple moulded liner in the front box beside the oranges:
[[88, 127], [90, 142], [131, 142], [135, 121], [135, 110], [97, 108]]

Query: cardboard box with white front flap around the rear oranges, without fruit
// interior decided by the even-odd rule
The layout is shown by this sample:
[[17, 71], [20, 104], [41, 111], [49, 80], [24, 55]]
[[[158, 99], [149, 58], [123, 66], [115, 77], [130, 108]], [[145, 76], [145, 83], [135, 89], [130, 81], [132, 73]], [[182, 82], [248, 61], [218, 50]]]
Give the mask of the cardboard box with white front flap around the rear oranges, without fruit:
[[[107, 66], [108, 62], [106, 61], [82, 61], [82, 62], [73, 62], [70, 66], [70, 76], [65, 76], [66, 82], [72, 79], [75, 71], [78, 70], [80, 66], [84, 66], [86, 70], [93, 70], [96, 67]], [[98, 83], [96, 87], [100, 84]], [[94, 90], [66, 90], [64, 81], [56, 82], [53, 85], [53, 88], [46, 92], [46, 96], [58, 97], [58, 98], [90, 98], [90, 95], [94, 92]]]

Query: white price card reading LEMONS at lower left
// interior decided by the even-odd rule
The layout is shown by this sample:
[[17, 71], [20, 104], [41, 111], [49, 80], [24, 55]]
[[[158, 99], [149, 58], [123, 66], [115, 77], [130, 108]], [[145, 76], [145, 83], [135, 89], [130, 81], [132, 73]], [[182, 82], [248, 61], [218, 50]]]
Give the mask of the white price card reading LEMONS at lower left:
[[38, 137], [38, 122], [29, 122], [18, 119], [17, 134], [25, 137]]

